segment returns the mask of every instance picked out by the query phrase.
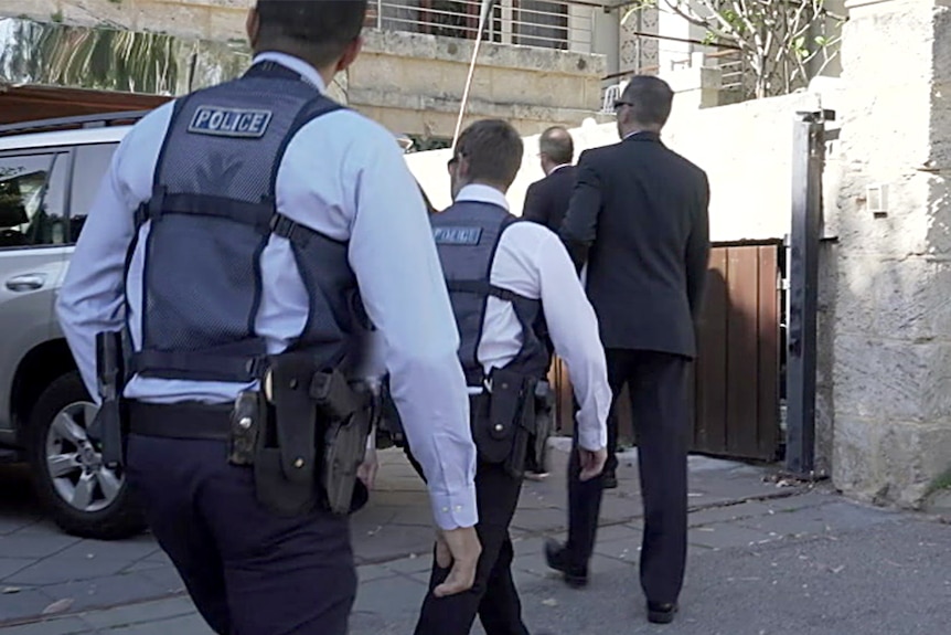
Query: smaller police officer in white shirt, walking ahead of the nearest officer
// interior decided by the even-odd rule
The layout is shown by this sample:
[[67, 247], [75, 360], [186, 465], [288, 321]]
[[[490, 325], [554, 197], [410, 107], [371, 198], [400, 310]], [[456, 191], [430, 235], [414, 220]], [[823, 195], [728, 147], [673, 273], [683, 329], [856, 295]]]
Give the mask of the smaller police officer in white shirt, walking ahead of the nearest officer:
[[[483, 551], [471, 590], [427, 595], [416, 635], [468, 634], [477, 614], [487, 635], [527, 634], [512, 580], [509, 523], [522, 487], [532, 388], [548, 369], [538, 317], [570, 369], [580, 403], [583, 478], [600, 474], [607, 457], [611, 392], [595, 313], [558, 236], [509, 212], [505, 192], [522, 152], [507, 123], [471, 125], [449, 162], [453, 204], [430, 216], [469, 385]], [[415, 443], [410, 438], [409, 448], [418, 456]], [[431, 588], [445, 580], [448, 555], [437, 546]]]

